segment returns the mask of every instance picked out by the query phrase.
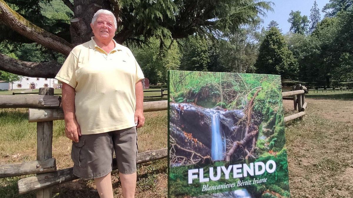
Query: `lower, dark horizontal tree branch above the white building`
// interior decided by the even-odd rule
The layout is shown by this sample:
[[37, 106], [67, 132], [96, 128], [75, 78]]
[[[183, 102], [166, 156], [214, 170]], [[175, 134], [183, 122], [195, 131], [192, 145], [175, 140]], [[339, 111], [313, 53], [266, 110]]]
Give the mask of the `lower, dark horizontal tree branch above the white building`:
[[0, 70], [18, 75], [37, 78], [54, 78], [60, 67], [61, 64], [56, 61], [35, 63], [16, 60], [0, 54]]

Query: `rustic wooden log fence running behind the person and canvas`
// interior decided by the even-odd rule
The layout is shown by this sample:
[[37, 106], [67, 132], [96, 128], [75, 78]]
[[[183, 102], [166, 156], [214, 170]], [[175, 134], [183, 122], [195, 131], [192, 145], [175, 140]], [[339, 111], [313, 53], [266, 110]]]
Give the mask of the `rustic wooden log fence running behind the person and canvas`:
[[[305, 115], [305, 93], [307, 93], [306, 88], [300, 85], [293, 88], [293, 91], [282, 93], [286, 99], [292, 96], [294, 109], [299, 111], [285, 117], [285, 122]], [[18, 181], [19, 194], [37, 191], [37, 198], [51, 198], [53, 186], [79, 179], [73, 175], [72, 167], [57, 170], [56, 161], [52, 157], [53, 120], [64, 119], [61, 98], [53, 94], [53, 88], [45, 87], [39, 89], [39, 95], [0, 95], [0, 108], [29, 108], [29, 122], [37, 122], [37, 160], [0, 165], [0, 178], [37, 174]], [[163, 97], [163, 89], [161, 94]], [[167, 100], [143, 103], [144, 112], [167, 110], [167, 106]], [[145, 151], [137, 155], [136, 163], [165, 157], [167, 157], [167, 148]], [[115, 169], [117, 169], [116, 165], [113, 170]]]

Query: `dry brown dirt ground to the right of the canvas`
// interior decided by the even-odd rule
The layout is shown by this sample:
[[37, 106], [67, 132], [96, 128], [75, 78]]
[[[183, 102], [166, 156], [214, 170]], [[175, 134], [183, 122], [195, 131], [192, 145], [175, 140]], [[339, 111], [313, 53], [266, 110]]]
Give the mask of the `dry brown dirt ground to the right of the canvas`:
[[[353, 101], [306, 101], [303, 121], [286, 124], [291, 195], [352, 198]], [[295, 113], [293, 101], [283, 103], [287, 113]]]

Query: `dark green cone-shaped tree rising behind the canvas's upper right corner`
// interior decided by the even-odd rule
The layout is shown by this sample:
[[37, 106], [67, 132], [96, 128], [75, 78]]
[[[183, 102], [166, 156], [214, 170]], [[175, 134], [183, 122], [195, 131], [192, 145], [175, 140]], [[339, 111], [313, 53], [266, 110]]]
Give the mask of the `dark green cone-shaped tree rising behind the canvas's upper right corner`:
[[271, 27], [261, 43], [254, 67], [257, 73], [277, 74], [282, 78], [296, 77], [298, 63], [276, 27]]

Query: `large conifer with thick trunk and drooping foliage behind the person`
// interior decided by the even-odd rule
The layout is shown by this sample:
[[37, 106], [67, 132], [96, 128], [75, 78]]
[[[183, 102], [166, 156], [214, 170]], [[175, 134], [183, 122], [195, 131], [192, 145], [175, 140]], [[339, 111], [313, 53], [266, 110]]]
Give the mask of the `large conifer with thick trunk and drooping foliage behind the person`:
[[[116, 18], [121, 19], [115, 36], [119, 43], [142, 43], [150, 37], [163, 41], [164, 38], [186, 38], [194, 34], [234, 33], [240, 24], [252, 23], [257, 16], [272, 10], [271, 2], [258, 0], [199, 0], [197, 3], [187, 0], [73, 0], [73, 4], [62, 0], [73, 12], [67, 13], [72, 16], [68, 24], [43, 16], [43, 5], [52, 1], [0, 0], [0, 20], [5, 25], [2, 29], [7, 28], [1, 31], [1, 38], [20, 43], [36, 42], [67, 55], [75, 45], [89, 41], [92, 16], [101, 8], [112, 10]], [[0, 69], [15, 74], [53, 78], [60, 67], [55, 59], [36, 63], [0, 54]]]

